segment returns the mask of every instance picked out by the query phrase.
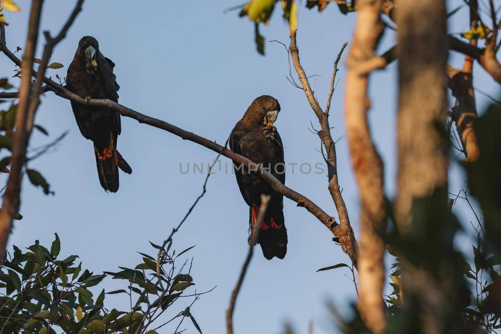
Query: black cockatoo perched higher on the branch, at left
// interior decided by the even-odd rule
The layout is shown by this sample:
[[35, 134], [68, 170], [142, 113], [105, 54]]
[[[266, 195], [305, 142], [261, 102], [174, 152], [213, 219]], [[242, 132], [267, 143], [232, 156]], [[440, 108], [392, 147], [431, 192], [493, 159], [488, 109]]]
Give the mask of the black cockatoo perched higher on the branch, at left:
[[[86, 99], [110, 99], [118, 102], [120, 88], [113, 73], [115, 63], [99, 51], [97, 40], [83, 37], [68, 68], [66, 88]], [[106, 191], [118, 190], [118, 167], [125, 173], [132, 169], [117, 151], [121, 132], [120, 114], [109, 108], [97, 108], [71, 102], [82, 135], [92, 140], [99, 182]]]

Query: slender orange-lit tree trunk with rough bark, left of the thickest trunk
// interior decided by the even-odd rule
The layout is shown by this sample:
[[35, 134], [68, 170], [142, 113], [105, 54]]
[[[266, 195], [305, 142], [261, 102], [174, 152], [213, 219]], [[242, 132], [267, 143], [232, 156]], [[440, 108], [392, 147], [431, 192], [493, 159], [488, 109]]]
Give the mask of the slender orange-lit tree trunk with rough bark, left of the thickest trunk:
[[358, 308], [368, 328], [382, 333], [386, 326], [383, 284], [384, 244], [378, 234], [386, 218], [383, 162], [372, 142], [367, 119], [369, 71], [383, 24], [379, 18], [384, 0], [357, 2], [358, 13], [353, 43], [347, 61], [345, 90], [346, 133], [353, 170], [357, 178], [360, 214], [360, 299]]

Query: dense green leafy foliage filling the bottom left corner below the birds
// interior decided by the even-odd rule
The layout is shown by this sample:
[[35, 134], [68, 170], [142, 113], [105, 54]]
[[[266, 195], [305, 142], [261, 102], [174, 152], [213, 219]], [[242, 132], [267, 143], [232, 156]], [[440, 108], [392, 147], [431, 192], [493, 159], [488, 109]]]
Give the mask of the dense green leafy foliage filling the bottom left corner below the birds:
[[[50, 250], [38, 242], [22, 252], [14, 246], [14, 253], [0, 267], [0, 331], [5, 333], [56, 333], [69, 334], [131, 333], [141, 323], [141, 333], [154, 334], [153, 319], [171, 309], [182, 293], [194, 285], [188, 273], [174, 274], [174, 263], [179, 255], [152, 244], [159, 251], [159, 270], [153, 256], [140, 253], [143, 262], [134, 269], [119, 267], [117, 272], [94, 274], [78, 265], [78, 256], [60, 259], [61, 241], [56, 234]], [[191, 248], [191, 247], [190, 247]], [[189, 250], [189, 249], [187, 249]], [[191, 267], [190, 267], [191, 268]], [[106, 276], [124, 280], [124, 288], [108, 291], [98, 288]], [[91, 291], [95, 287], [100, 292]], [[92, 290], [94, 290], [92, 289]], [[106, 295], [127, 294], [136, 299], [130, 308], [118, 310], [105, 307]], [[195, 300], [200, 294], [192, 294]], [[179, 302], [176, 303], [176, 305]], [[150, 306], [151, 308], [148, 308]], [[147, 313], [146, 311], [150, 312]], [[155, 318], [153, 318], [153, 315]], [[173, 319], [189, 317], [194, 327], [201, 329], [189, 306]], [[155, 323], [155, 327], [158, 324]], [[60, 329], [58, 329], [60, 328]]]

